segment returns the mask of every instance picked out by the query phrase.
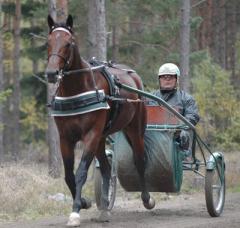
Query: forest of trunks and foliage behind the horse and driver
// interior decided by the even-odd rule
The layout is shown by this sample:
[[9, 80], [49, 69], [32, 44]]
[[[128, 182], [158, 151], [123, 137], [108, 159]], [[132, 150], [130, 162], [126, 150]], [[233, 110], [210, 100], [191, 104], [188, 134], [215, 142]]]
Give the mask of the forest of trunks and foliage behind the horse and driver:
[[[103, 3], [101, 20], [94, 2]], [[146, 91], [158, 88], [160, 65], [180, 66], [180, 87], [197, 100], [200, 135], [212, 148], [239, 151], [239, 0], [1, 0], [0, 9], [0, 162], [35, 156], [50, 173], [59, 162], [46, 106], [48, 14], [71, 14], [81, 55], [131, 66]], [[104, 54], [91, 27], [97, 23]]]

